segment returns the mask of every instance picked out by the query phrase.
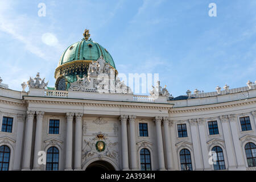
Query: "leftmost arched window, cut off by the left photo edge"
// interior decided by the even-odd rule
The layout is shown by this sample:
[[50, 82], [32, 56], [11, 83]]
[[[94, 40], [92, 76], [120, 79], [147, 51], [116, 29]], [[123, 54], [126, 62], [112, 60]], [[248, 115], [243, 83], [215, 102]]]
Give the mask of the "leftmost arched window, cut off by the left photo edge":
[[0, 171], [8, 171], [11, 150], [7, 146], [0, 147]]

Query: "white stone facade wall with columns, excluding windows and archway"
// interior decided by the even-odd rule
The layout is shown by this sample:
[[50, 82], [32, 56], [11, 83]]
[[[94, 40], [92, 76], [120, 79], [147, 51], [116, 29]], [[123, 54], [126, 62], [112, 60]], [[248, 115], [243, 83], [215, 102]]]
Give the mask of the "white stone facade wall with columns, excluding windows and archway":
[[[13, 118], [11, 132], [0, 131], [0, 146], [10, 148], [9, 170], [46, 170], [39, 151], [55, 146], [59, 170], [85, 170], [96, 161], [115, 170], [141, 170], [140, 152], [150, 151], [152, 170], [181, 170], [180, 151], [191, 154], [193, 170], [213, 170], [209, 151], [221, 147], [225, 170], [249, 167], [245, 145], [256, 144], [256, 88], [191, 94], [190, 99], [159, 96], [58, 91], [30, 88], [18, 92], [0, 88], [0, 129], [3, 117]], [[251, 130], [242, 131], [241, 117]], [[49, 120], [59, 120], [59, 134], [49, 134]], [[217, 121], [218, 133], [209, 134], [208, 122]], [[147, 123], [148, 137], [139, 136]], [[177, 125], [186, 124], [187, 137], [178, 137]], [[95, 147], [104, 135], [105, 150]]]

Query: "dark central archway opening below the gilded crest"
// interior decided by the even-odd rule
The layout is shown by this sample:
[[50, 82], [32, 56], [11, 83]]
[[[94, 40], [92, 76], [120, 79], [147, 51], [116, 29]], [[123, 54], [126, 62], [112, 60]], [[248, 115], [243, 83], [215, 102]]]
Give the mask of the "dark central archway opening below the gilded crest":
[[115, 168], [112, 164], [104, 160], [96, 160], [93, 163], [90, 163], [85, 171], [115, 171]]

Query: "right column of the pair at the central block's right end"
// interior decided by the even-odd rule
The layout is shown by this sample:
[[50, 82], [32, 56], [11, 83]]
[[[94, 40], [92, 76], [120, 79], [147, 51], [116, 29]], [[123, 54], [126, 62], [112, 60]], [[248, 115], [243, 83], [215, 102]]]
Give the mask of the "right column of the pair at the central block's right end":
[[170, 138], [170, 130], [169, 130], [169, 118], [163, 117], [163, 125], [164, 125], [164, 139], [166, 143], [166, 158], [167, 158], [167, 169], [172, 170], [172, 149], [171, 149], [171, 138]]

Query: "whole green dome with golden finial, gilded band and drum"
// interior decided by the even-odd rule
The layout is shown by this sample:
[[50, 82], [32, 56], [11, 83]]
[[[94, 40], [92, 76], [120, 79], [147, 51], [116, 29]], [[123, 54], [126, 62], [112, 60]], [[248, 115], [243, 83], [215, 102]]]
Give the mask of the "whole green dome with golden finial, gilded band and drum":
[[88, 76], [88, 69], [92, 61], [97, 61], [101, 56], [106, 63], [117, 69], [110, 53], [100, 44], [89, 39], [89, 30], [84, 31], [84, 39], [69, 46], [61, 55], [59, 64], [55, 69], [55, 89], [68, 90], [72, 82], [77, 81], [77, 76]]

